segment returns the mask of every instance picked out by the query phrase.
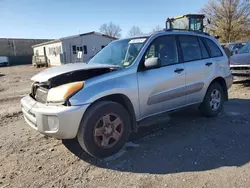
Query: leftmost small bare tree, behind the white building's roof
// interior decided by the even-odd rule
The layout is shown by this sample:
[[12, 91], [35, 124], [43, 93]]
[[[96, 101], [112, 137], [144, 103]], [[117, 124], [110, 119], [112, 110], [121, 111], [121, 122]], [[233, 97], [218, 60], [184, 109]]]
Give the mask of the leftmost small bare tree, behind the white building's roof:
[[119, 25], [113, 24], [112, 22], [102, 24], [99, 30], [101, 33], [108, 35], [110, 37], [116, 37], [116, 38], [121, 37], [122, 29], [120, 28]]

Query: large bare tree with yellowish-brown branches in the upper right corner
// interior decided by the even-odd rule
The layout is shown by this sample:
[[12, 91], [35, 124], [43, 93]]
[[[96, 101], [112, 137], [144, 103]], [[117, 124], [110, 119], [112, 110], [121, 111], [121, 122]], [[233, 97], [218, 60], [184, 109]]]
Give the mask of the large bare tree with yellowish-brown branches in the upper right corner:
[[211, 0], [201, 12], [210, 20], [206, 29], [221, 42], [242, 40], [249, 34], [249, 0]]

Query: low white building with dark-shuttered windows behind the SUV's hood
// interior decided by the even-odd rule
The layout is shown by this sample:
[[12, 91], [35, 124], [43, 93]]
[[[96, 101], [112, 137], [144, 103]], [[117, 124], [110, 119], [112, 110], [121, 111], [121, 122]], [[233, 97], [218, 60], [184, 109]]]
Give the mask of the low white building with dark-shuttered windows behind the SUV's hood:
[[45, 59], [50, 66], [88, 62], [98, 51], [116, 38], [89, 32], [32, 46], [34, 57]]

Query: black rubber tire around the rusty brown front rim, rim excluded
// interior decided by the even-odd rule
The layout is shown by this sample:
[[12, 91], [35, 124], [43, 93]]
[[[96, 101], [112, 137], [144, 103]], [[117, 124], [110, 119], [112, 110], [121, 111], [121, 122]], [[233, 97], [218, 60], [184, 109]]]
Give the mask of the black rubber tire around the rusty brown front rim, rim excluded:
[[[109, 113], [115, 113], [120, 117], [123, 122], [123, 131], [115, 145], [109, 148], [103, 148], [97, 144], [94, 130], [99, 119]], [[129, 138], [130, 132], [130, 118], [126, 109], [116, 102], [101, 101], [91, 106], [83, 116], [78, 130], [77, 140], [87, 153], [96, 158], [104, 158], [122, 149]]]

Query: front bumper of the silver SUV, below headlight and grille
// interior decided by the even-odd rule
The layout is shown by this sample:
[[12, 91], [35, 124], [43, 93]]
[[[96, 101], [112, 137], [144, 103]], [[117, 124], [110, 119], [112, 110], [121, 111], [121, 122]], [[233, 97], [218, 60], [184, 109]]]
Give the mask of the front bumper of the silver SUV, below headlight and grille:
[[77, 135], [82, 116], [89, 104], [81, 106], [50, 106], [26, 96], [21, 99], [25, 121], [38, 132], [59, 139]]

